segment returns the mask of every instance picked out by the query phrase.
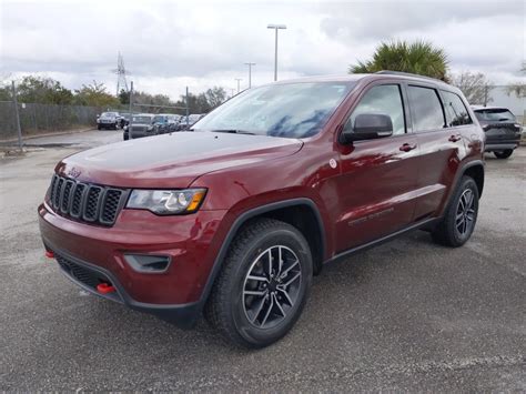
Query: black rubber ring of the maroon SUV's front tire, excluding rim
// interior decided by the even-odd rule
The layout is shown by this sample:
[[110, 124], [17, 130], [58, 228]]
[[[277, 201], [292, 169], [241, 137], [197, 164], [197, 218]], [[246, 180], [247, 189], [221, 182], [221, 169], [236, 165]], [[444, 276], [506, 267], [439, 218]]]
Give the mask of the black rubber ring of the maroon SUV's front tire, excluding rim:
[[[247, 271], [252, 266], [254, 260], [266, 249], [275, 245], [284, 245], [290, 247], [300, 260], [302, 272], [300, 292], [297, 301], [289, 311], [290, 319], [285, 319], [276, 326], [271, 329], [257, 329], [253, 326], [244, 313], [243, 307], [243, 286]], [[230, 291], [230, 315], [235, 331], [242, 339], [254, 347], [265, 346], [284, 336], [301, 315], [305, 301], [308, 296], [308, 290], [312, 282], [312, 256], [308, 244], [304, 238], [293, 230], [280, 229], [273, 230], [265, 234], [261, 234], [253, 240], [251, 245], [246, 247], [243, 257], [234, 271]]]

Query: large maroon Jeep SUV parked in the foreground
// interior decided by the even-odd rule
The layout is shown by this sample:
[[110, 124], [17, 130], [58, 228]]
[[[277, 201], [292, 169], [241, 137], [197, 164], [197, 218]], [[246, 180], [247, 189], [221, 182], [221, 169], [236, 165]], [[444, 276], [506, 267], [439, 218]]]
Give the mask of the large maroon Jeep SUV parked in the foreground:
[[408, 230], [461, 246], [484, 132], [458, 89], [381, 72], [250, 89], [189, 132], [73, 154], [39, 208], [78, 285], [233, 342], [294, 325], [323, 264]]

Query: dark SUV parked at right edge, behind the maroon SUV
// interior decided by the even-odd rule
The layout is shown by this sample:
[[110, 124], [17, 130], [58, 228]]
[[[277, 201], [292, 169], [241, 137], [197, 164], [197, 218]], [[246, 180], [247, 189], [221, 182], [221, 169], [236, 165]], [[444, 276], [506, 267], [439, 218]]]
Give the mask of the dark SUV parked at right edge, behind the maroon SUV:
[[520, 143], [522, 125], [507, 108], [473, 105], [486, 134], [486, 152], [498, 159], [509, 158]]

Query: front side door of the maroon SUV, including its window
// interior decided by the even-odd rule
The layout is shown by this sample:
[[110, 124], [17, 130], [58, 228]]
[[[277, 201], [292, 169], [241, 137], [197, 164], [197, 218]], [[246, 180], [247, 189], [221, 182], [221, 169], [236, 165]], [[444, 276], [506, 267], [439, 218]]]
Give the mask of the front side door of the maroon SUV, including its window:
[[419, 148], [407, 132], [403, 98], [396, 83], [374, 85], [345, 122], [344, 130], [361, 113], [385, 114], [393, 122], [393, 135], [355, 141], [341, 152], [336, 253], [396, 232], [413, 220]]

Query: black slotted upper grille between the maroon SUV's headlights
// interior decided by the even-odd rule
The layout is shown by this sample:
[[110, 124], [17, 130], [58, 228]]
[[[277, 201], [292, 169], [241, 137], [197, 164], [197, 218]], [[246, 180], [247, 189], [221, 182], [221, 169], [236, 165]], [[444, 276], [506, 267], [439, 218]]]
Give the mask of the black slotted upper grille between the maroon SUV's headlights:
[[128, 191], [53, 175], [49, 202], [57, 213], [79, 221], [113, 225]]

